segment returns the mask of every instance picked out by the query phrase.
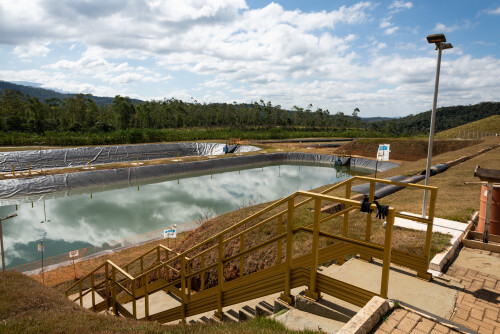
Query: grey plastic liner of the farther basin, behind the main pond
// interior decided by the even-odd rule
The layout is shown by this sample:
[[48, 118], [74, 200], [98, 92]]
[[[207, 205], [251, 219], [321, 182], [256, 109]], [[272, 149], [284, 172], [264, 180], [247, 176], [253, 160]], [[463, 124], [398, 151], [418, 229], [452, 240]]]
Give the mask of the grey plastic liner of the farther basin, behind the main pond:
[[[50, 150], [29, 150], [0, 153], [0, 172], [11, 172], [40, 168], [79, 167], [89, 164], [133, 162], [161, 158], [223, 155], [225, 144], [221, 143], [162, 143], [117, 146], [72, 147]], [[259, 151], [251, 145], [239, 146], [239, 152]]]

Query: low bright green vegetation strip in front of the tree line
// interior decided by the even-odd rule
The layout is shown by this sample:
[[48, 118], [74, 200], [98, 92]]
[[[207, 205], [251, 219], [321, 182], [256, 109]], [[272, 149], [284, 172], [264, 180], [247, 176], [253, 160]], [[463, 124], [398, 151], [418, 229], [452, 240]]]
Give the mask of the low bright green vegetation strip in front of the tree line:
[[182, 129], [128, 129], [111, 132], [54, 132], [43, 134], [27, 132], [1, 132], [0, 146], [24, 146], [44, 143], [51, 146], [83, 146], [110, 144], [137, 144], [194, 140], [287, 139], [305, 137], [381, 137], [378, 132], [356, 128], [321, 127], [252, 127], [234, 128], [182, 128]]

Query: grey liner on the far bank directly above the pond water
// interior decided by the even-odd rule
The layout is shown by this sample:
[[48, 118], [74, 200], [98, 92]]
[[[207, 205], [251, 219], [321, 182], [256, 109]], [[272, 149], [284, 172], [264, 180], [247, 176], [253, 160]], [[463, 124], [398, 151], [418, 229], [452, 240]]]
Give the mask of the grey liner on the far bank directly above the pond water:
[[[123, 187], [138, 185], [142, 181], [159, 177], [181, 177], [194, 173], [220, 171], [228, 168], [253, 166], [264, 163], [320, 163], [335, 165], [336, 156], [313, 153], [271, 153], [233, 156], [202, 161], [169, 163], [118, 169], [83, 171], [69, 174], [54, 174], [32, 178], [0, 181], [0, 205], [36, 201], [43, 198], [69, 196], [76, 190], [81, 193], [89, 189], [102, 189], [106, 185], [121, 184]], [[353, 158], [351, 170], [367, 171], [370, 163], [362, 158]], [[398, 166], [395, 163], [379, 162], [379, 170]], [[97, 191], [96, 191], [97, 192]]]

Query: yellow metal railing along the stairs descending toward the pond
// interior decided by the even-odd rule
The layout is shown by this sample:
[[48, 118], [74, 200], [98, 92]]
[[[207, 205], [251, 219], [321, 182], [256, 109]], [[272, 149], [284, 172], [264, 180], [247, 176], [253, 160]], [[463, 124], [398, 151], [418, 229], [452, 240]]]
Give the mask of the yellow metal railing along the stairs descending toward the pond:
[[[427, 218], [409, 216], [397, 213], [394, 208], [390, 207], [388, 209], [384, 232], [384, 245], [375, 244], [370, 240], [372, 233], [371, 213], [367, 214], [366, 217], [365, 240], [349, 237], [350, 213], [361, 207], [359, 201], [350, 198], [351, 186], [356, 180], [370, 183], [370, 202], [373, 202], [375, 184], [377, 182], [416, 189], [427, 189], [431, 192], [429, 215]], [[327, 193], [343, 186], [346, 187], [345, 197], [327, 195]], [[323, 292], [363, 306], [373, 295], [380, 295], [387, 298], [391, 262], [415, 269], [420, 277], [430, 278], [427, 274], [427, 269], [436, 195], [437, 188], [435, 187], [360, 176], [355, 176], [335, 184], [321, 193], [297, 191], [182, 253], [175, 253], [171, 249], [159, 245], [127, 263], [124, 269], [108, 260], [87, 276], [74, 283], [66, 290], [66, 295], [69, 295], [70, 291], [76, 288], [78, 293], [77, 297], [73, 300], [75, 302], [79, 301], [80, 305], [84, 306], [84, 297], [90, 293], [92, 295], [91, 304], [87, 303], [87, 308], [102, 311], [112, 307], [115, 314], [122, 314], [132, 318], [138, 318], [136, 302], [138, 299], [144, 298], [145, 316], [143, 319], [160, 322], [177, 319], [185, 321], [188, 316], [210, 310], [216, 310], [214, 316], [222, 319], [222, 309], [225, 306], [280, 291], [282, 292], [280, 298], [285, 302], [292, 303], [293, 296], [291, 289], [303, 285], [307, 286], [306, 295], [310, 298], [317, 299]], [[298, 197], [305, 199], [296, 203]], [[296, 209], [311, 201], [314, 201], [312, 223], [306, 226], [295, 227], [294, 215]], [[325, 216], [322, 213], [322, 204], [327, 202], [340, 203], [343, 205], [343, 208], [334, 214]], [[286, 205], [286, 209], [280, 210], [277, 213], [272, 212], [272, 210], [282, 205]], [[371, 208], [376, 209], [376, 206], [372, 204]], [[270, 216], [266, 217], [266, 214]], [[332, 231], [328, 231], [325, 228], [322, 229], [323, 223], [341, 215], [343, 215], [343, 220], [340, 234], [332, 233]], [[395, 217], [411, 219], [427, 224], [424, 256], [417, 256], [392, 249], [392, 233]], [[244, 228], [245, 224], [255, 219], [261, 219], [261, 221], [254, 223], [248, 228]], [[248, 235], [252, 231], [257, 231], [256, 229], [262, 228], [268, 223], [273, 226], [276, 225], [276, 235], [245, 249], [245, 235]], [[294, 257], [294, 237], [297, 237], [301, 233], [312, 235], [311, 248], [309, 251], [304, 251], [305, 255]], [[320, 238], [331, 240], [334, 243], [322, 247], [320, 245]], [[225, 256], [225, 247], [231, 246], [231, 243], [239, 244], [239, 251], [236, 254]], [[270, 246], [276, 247], [276, 263], [269, 268], [245, 275], [245, 256], [262, 251]], [[285, 249], [283, 249], [283, 246]], [[284, 259], [282, 258], [283, 251], [285, 253]], [[342, 262], [346, 255], [352, 253], [358, 253], [364, 259], [374, 257], [383, 261], [379, 293], [364, 290], [317, 272], [320, 263], [335, 259]], [[208, 255], [210, 254], [215, 256], [211, 257], [211, 263], [207, 263], [207, 260], [210, 258]], [[239, 277], [232, 281], [225, 281], [224, 268], [235, 261], [239, 264]], [[193, 266], [193, 264], [195, 265]], [[100, 272], [99, 275], [97, 274], [98, 272]], [[210, 273], [216, 273], [217, 284], [214, 285], [212, 282], [212, 286], [207, 287], [206, 275], [210, 275]], [[102, 281], [96, 283], [96, 278], [101, 278], [102, 276], [104, 276]], [[199, 288], [197, 288], [195, 294], [192, 294], [193, 281], [198, 277], [200, 278]], [[176, 295], [179, 298], [179, 305], [172, 309], [150, 315], [149, 295], [159, 290], [168, 291]], [[96, 303], [97, 292], [103, 299], [99, 303]], [[130, 302], [132, 302], [131, 313], [123, 306]]]

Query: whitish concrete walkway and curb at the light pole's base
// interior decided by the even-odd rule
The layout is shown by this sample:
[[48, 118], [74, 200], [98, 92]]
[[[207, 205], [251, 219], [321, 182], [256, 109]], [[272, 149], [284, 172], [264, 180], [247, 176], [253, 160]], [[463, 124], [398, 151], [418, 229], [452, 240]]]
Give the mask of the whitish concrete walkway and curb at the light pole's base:
[[[414, 213], [409, 213], [409, 212], [401, 212], [401, 213], [419, 217], [419, 215]], [[394, 226], [408, 228], [417, 231], [427, 230], [427, 224], [422, 224], [419, 222], [415, 222], [413, 220], [398, 218], [398, 217], [396, 217], [396, 219], [394, 220]], [[432, 258], [431, 262], [429, 263], [429, 269], [433, 275], [439, 274], [442, 271], [443, 267], [446, 265], [446, 263], [451, 258], [453, 258], [453, 255], [455, 254], [455, 252], [458, 249], [458, 246], [460, 245], [460, 240], [465, 235], [465, 230], [467, 229], [468, 226], [469, 224], [466, 223], [460, 223], [453, 220], [434, 217], [432, 232], [439, 232], [451, 235], [450, 239], [451, 245], [446, 247], [446, 249], [443, 252], [436, 254], [436, 256]]]

